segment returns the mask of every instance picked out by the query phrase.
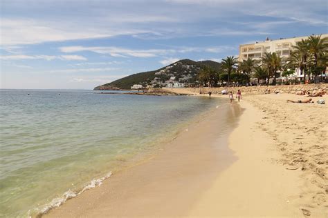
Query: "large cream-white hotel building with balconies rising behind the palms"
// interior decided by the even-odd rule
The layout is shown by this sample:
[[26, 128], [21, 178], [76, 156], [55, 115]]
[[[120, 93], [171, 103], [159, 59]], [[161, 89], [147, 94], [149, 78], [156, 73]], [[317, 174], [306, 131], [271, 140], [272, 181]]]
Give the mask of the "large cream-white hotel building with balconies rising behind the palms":
[[[328, 37], [328, 34], [322, 34], [321, 39], [325, 37]], [[259, 60], [261, 57], [263, 57], [265, 52], [275, 52], [276, 54], [280, 55], [280, 57], [289, 57], [291, 51], [293, 50], [292, 46], [295, 46], [298, 41], [302, 41], [302, 39], [307, 38], [309, 38], [309, 36], [294, 37], [289, 39], [280, 38], [277, 40], [266, 38], [266, 41], [240, 45], [238, 61], [242, 61], [248, 57]], [[295, 77], [302, 78], [304, 75], [300, 75], [300, 70], [297, 69], [295, 72]]]

